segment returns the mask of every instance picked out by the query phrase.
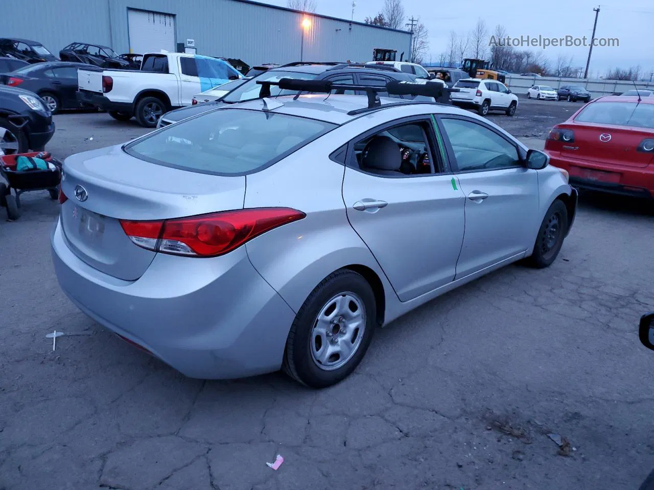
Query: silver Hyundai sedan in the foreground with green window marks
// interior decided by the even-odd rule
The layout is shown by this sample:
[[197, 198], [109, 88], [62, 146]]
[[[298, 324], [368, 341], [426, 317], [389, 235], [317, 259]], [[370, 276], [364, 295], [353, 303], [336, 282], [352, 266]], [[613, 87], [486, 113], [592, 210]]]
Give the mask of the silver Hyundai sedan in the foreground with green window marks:
[[233, 104], [63, 171], [52, 255], [80, 310], [187, 376], [312, 387], [424, 302], [553, 263], [577, 197], [475, 114], [360, 95]]

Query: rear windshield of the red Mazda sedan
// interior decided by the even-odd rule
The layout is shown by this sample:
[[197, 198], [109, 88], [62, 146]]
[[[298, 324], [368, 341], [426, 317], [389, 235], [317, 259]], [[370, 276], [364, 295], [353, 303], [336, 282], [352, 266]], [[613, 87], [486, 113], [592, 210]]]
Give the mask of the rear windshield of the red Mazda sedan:
[[596, 102], [587, 105], [575, 121], [654, 129], [654, 104]]

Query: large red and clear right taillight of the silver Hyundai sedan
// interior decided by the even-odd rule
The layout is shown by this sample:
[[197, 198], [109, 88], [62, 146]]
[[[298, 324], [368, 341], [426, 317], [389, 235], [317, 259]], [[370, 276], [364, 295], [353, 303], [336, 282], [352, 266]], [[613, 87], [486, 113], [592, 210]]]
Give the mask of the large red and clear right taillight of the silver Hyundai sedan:
[[216, 257], [305, 216], [291, 208], [252, 208], [173, 220], [120, 220], [120, 225], [132, 242], [153, 252]]

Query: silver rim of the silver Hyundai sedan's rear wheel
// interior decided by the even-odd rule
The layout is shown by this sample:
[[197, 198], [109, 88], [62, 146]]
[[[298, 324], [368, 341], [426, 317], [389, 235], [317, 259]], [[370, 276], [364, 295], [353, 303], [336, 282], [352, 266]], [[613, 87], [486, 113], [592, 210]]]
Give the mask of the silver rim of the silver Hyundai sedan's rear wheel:
[[366, 308], [358, 295], [340, 293], [320, 309], [310, 338], [311, 358], [325, 371], [343, 367], [358, 351], [366, 331]]

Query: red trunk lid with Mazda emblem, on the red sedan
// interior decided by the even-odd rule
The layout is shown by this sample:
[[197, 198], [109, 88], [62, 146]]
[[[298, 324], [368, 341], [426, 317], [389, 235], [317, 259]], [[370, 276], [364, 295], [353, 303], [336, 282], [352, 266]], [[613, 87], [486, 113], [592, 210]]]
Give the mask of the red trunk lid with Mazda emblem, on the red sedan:
[[654, 163], [651, 152], [636, 151], [642, 140], [654, 138], [653, 129], [574, 122], [559, 124], [557, 127], [574, 131], [574, 142], [561, 146], [563, 155], [627, 167], [642, 168]]

